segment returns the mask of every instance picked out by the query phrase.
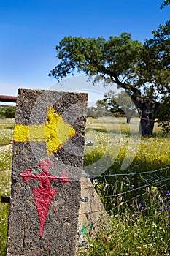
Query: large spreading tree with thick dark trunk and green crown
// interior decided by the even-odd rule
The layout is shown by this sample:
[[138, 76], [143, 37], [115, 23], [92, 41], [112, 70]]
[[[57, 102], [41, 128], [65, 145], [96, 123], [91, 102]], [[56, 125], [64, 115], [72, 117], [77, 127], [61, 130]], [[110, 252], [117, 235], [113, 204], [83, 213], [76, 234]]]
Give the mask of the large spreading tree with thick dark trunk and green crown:
[[[156, 47], [158, 39], [160, 44]], [[142, 135], [150, 136], [162, 89], [169, 87], [166, 78], [169, 77], [169, 70], [164, 59], [168, 49], [169, 41], [163, 26], [154, 31], [153, 39], [147, 40], [144, 45], [132, 40], [128, 33], [109, 37], [108, 40], [103, 37], [64, 37], [56, 46], [57, 57], [61, 61], [49, 75], [59, 81], [67, 75], [74, 75], [75, 71], [83, 71], [85, 75], [95, 76], [94, 83], [98, 80], [103, 80], [104, 86], [116, 83], [125, 89], [136, 108], [142, 111]], [[161, 56], [164, 57], [161, 59]], [[155, 92], [158, 92], [156, 97]], [[151, 98], [142, 98], [142, 94], [146, 97], [149, 93]]]

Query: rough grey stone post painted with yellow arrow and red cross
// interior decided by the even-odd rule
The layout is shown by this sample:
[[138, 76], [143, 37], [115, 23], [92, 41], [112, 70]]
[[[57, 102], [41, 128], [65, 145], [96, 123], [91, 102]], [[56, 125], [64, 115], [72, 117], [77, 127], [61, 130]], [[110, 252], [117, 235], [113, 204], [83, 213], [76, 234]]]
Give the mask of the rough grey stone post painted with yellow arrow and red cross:
[[75, 255], [87, 98], [19, 89], [7, 255]]

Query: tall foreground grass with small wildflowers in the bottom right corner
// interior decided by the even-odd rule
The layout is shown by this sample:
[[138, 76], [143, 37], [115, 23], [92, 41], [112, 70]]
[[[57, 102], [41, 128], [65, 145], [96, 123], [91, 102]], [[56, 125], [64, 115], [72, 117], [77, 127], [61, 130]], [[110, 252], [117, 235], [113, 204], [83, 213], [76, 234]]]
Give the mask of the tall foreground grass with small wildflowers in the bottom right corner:
[[[162, 200], [156, 187], [147, 189], [147, 207], [136, 198], [131, 206], [120, 206], [120, 213], [111, 216], [111, 223], [98, 222], [96, 236], [78, 249], [83, 255], [170, 255], [169, 193]], [[121, 212], [121, 207], [125, 211]]]

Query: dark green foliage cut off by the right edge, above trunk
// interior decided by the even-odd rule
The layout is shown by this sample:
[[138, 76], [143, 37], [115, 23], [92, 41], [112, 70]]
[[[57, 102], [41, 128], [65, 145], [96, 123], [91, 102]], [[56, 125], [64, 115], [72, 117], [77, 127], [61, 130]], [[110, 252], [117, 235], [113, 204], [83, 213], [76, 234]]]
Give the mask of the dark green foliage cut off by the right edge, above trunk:
[[147, 96], [155, 100], [169, 95], [170, 20], [165, 25], [159, 26], [157, 31], [152, 31], [152, 35], [153, 38], [146, 39], [144, 43], [139, 72], [144, 77], [143, 83], [147, 81], [152, 84], [144, 89]]

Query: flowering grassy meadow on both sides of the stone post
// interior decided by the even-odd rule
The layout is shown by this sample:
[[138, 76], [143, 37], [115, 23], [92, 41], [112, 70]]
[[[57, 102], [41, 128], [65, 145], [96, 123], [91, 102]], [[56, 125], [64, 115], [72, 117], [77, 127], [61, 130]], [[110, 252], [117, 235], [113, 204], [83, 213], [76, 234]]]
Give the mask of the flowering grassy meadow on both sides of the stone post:
[[[4, 121], [4, 120], [3, 120]], [[13, 121], [13, 120], [12, 120]], [[10, 195], [12, 121], [0, 121], [0, 196]], [[155, 124], [139, 136], [139, 119], [88, 118], [84, 169], [112, 219], [77, 255], [170, 255], [170, 135]], [[5, 255], [9, 204], [0, 203], [0, 255]]]

